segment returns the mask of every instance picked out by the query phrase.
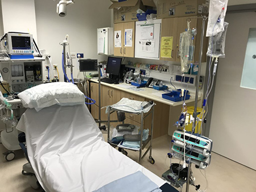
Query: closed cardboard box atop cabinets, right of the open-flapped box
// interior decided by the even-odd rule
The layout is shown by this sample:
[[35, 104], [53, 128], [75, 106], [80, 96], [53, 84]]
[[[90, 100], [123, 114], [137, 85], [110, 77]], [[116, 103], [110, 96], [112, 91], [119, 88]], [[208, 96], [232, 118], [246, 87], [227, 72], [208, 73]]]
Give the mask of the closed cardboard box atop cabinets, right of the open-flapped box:
[[158, 0], [158, 19], [207, 15], [209, 0]]

